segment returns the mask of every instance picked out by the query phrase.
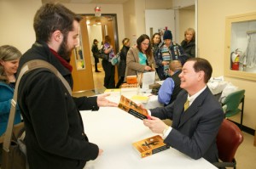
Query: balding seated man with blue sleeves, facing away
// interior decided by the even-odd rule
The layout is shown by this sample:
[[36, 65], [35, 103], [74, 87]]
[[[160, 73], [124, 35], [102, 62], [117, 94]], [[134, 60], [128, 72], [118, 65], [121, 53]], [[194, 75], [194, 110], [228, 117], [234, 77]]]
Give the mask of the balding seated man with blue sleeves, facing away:
[[166, 78], [158, 92], [158, 101], [161, 104], [171, 104], [177, 94], [182, 90], [180, 86], [180, 78], [178, 77], [182, 71], [182, 64], [179, 60], [172, 60], [169, 65], [170, 77]]

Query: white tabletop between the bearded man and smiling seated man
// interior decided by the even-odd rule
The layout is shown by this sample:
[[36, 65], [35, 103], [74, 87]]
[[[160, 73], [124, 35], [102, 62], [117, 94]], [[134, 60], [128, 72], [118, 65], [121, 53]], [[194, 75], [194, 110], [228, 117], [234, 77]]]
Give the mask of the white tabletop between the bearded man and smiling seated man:
[[104, 150], [95, 161], [88, 161], [84, 169], [216, 169], [203, 158], [193, 160], [172, 148], [141, 158], [131, 144], [156, 134], [143, 121], [119, 108], [81, 111], [81, 115], [90, 142]]

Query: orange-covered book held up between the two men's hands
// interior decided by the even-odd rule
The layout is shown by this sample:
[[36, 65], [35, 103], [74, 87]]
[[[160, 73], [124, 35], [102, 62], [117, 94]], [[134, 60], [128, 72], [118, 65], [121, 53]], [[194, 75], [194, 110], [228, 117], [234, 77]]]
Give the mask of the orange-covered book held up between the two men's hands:
[[126, 112], [130, 113], [131, 115], [136, 116], [139, 119], [147, 119], [148, 118], [148, 111], [141, 108], [131, 99], [125, 98], [125, 96], [121, 95], [121, 99], [118, 105], [119, 109], [125, 110]]

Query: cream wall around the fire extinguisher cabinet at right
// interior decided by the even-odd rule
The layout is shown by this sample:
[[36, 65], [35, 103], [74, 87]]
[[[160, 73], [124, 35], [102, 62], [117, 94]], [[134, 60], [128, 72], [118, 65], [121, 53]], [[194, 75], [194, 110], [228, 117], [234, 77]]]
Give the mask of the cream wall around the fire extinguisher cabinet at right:
[[[212, 76], [224, 75], [224, 42], [226, 16], [255, 12], [255, 0], [198, 0], [198, 48], [201, 58], [209, 60], [212, 65]], [[217, 12], [218, 11], [218, 12]], [[243, 124], [256, 127], [256, 91], [255, 82], [235, 77], [224, 76], [225, 80], [246, 90]], [[240, 122], [240, 114], [232, 118]], [[253, 144], [253, 143], [252, 143]]]

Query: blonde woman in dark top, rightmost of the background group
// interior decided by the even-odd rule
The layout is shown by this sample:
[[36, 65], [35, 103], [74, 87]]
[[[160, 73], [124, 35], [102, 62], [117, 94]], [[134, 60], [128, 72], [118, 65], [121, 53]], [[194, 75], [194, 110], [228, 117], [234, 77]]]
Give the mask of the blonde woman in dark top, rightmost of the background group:
[[184, 40], [181, 42], [181, 47], [187, 56], [195, 58], [195, 30], [193, 28], [188, 28], [184, 32]]

